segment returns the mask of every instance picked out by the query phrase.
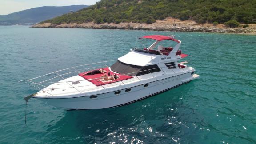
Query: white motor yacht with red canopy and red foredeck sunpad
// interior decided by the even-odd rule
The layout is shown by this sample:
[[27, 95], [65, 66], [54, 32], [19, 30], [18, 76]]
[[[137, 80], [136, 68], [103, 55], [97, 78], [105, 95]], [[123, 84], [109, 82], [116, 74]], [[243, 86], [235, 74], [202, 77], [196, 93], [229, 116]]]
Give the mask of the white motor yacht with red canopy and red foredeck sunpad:
[[[184, 65], [187, 62], [178, 62], [188, 56], [179, 50], [180, 40], [162, 35], [139, 39], [155, 42], [148, 48], [133, 48], [118, 60], [84, 64], [21, 80], [39, 89], [24, 99], [28, 102], [28, 99], [35, 98], [65, 110], [112, 108], [159, 94], [199, 77], [194, 68]], [[177, 44], [173, 48], [164, 47], [160, 45], [161, 41]], [[112, 65], [108, 66], [110, 63]], [[98, 81], [103, 74], [84, 75], [102, 67], [119, 78]]]

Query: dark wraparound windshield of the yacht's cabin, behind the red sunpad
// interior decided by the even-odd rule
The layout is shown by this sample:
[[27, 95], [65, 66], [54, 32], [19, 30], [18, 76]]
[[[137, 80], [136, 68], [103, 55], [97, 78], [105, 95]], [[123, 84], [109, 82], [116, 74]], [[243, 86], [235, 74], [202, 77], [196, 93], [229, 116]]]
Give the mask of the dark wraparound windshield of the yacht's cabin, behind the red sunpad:
[[132, 64], [125, 64], [123, 62], [120, 62], [119, 60], [117, 60], [116, 63], [111, 66], [111, 70], [129, 76], [140, 76], [161, 71], [156, 64], [148, 66], [138, 66]]

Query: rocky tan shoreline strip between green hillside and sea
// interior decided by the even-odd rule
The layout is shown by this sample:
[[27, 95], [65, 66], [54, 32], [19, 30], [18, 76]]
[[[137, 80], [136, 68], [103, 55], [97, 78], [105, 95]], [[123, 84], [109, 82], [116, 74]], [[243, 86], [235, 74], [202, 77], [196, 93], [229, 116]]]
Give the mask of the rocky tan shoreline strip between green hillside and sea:
[[[174, 26], [176, 24], [176, 26]], [[165, 20], [157, 20], [153, 24], [140, 23], [104, 23], [95, 24], [89, 23], [70, 23], [70, 24], [35, 24], [32, 28], [93, 28], [93, 29], [130, 29], [130, 30], [153, 30], [153, 31], [174, 31], [177, 32], [213, 32], [213, 33], [236, 33], [236, 34], [251, 34], [256, 35], [256, 24], [249, 24], [248, 28], [226, 28], [224, 24], [197, 24], [190, 20], [177, 20], [167, 18]]]

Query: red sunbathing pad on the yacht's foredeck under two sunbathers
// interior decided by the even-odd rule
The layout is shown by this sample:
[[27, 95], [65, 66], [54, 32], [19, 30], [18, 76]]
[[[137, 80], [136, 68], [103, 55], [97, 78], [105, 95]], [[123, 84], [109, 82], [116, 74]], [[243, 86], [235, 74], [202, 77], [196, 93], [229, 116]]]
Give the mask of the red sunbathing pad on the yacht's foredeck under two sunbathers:
[[[115, 72], [111, 72], [108, 67], [105, 68], [105, 70], [107, 71], [106, 74], [108, 75], [108, 72], [110, 72], [110, 75], [118, 75], [119, 78], [116, 79], [116, 80], [109, 80], [109, 81], [97, 81], [100, 79], [100, 76], [103, 76], [105, 73], [99, 73], [99, 74], [95, 74], [95, 75], [84, 75], [84, 73], [87, 73], [87, 72], [82, 72], [80, 74], [78, 74], [79, 76], [83, 77], [85, 80], [88, 80], [90, 82], [92, 82], [93, 84], [95, 84], [96, 86], [100, 86], [100, 85], [105, 85], [105, 84], [111, 84], [111, 83], [115, 83], [117, 81], [121, 81], [121, 80], [128, 80], [128, 79], [131, 79], [133, 78], [133, 76], [127, 76], [127, 75], [121, 75], [121, 74], [117, 74]], [[90, 71], [89, 71], [90, 72]]]

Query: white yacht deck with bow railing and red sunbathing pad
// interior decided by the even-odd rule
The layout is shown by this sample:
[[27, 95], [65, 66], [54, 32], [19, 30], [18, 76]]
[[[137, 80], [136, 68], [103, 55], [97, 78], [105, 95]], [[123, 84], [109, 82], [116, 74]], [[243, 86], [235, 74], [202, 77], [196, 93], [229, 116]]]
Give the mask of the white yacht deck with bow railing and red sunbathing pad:
[[[186, 63], [186, 62], [184, 62]], [[144, 80], [156, 80], [158, 77], [170, 77], [179, 75], [180, 73], [184, 73], [187, 71], [192, 71], [191, 67], [187, 67], [183, 65], [184, 63], [179, 64], [179, 68], [177, 69], [168, 69], [165, 65], [160, 67], [160, 72], [149, 73], [141, 76], [128, 76], [128, 75], [120, 75], [120, 78], [117, 80], [110, 81], [100, 81], [100, 76], [103, 74], [97, 74], [89, 77], [82, 76], [85, 71], [76, 70], [77, 67], [67, 68], [64, 70], [52, 72], [43, 76], [38, 76], [36, 78], [30, 80], [22, 80], [27, 84], [39, 89], [36, 96], [34, 97], [69, 97], [69, 96], [85, 96], [85, 95], [94, 95], [95, 93], [104, 90], [104, 92], [110, 91], [110, 88], [116, 88], [118, 86], [127, 85], [127, 87], [131, 87], [132, 84], [136, 82], [144, 83]], [[82, 65], [83, 66], [83, 65]], [[99, 67], [98, 67], [99, 68]], [[102, 67], [100, 67], [102, 68]], [[75, 69], [75, 71], [66, 72], [67, 70]], [[88, 69], [88, 68], [87, 68]], [[112, 72], [111, 69], [105, 68], [108, 72], [111, 72], [111, 75], [117, 74]], [[61, 73], [62, 72], [62, 73]], [[87, 70], [87, 72], [90, 72]], [[108, 73], [107, 72], [107, 73]], [[76, 74], [75, 74], [76, 73]], [[77, 74], [78, 73], [78, 74]], [[69, 76], [72, 74], [72, 76]], [[75, 75], [74, 75], [75, 74]], [[50, 76], [50, 77], [48, 77]], [[66, 77], [66, 78], [65, 78]], [[41, 78], [46, 78], [43, 81]], [[56, 80], [59, 79], [59, 80]], [[36, 82], [39, 80], [40, 82]]]

